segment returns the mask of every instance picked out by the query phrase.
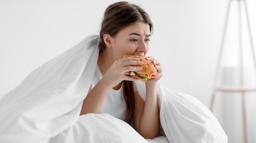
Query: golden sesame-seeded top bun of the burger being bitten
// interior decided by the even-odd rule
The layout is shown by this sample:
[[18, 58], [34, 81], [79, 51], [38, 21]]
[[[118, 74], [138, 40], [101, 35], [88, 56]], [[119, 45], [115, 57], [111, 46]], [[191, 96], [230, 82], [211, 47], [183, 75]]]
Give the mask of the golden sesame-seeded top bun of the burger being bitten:
[[150, 60], [146, 59], [146, 56], [124, 55], [123, 57], [136, 57], [136, 58], [139, 58], [139, 61], [143, 62], [143, 65], [136, 66], [136, 67], [142, 67], [141, 71], [136, 71], [137, 73], [148, 74], [148, 73], [153, 73], [153, 72], [157, 71], [154, 64], [152, 64], [152, 62]]

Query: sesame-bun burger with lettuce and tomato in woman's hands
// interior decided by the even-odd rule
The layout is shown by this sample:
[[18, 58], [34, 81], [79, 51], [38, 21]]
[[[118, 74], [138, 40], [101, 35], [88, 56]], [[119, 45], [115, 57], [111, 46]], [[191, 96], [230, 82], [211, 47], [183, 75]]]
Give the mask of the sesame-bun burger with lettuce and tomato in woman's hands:
[[139, 61], [143, 62], [143, 65], [134, 66], [134, 67], [142, 67], [141, 71], [129, 71], [131, 76], [138, 77], [139, 80], [144, 82], [152, 81], [157, 78], [158, 76], [157, 69], [155, 68], [152, 61], [146, 59], [146, 56], [124, 55], [124, 57], [136, 57], [136, 58], [139, 58]]

